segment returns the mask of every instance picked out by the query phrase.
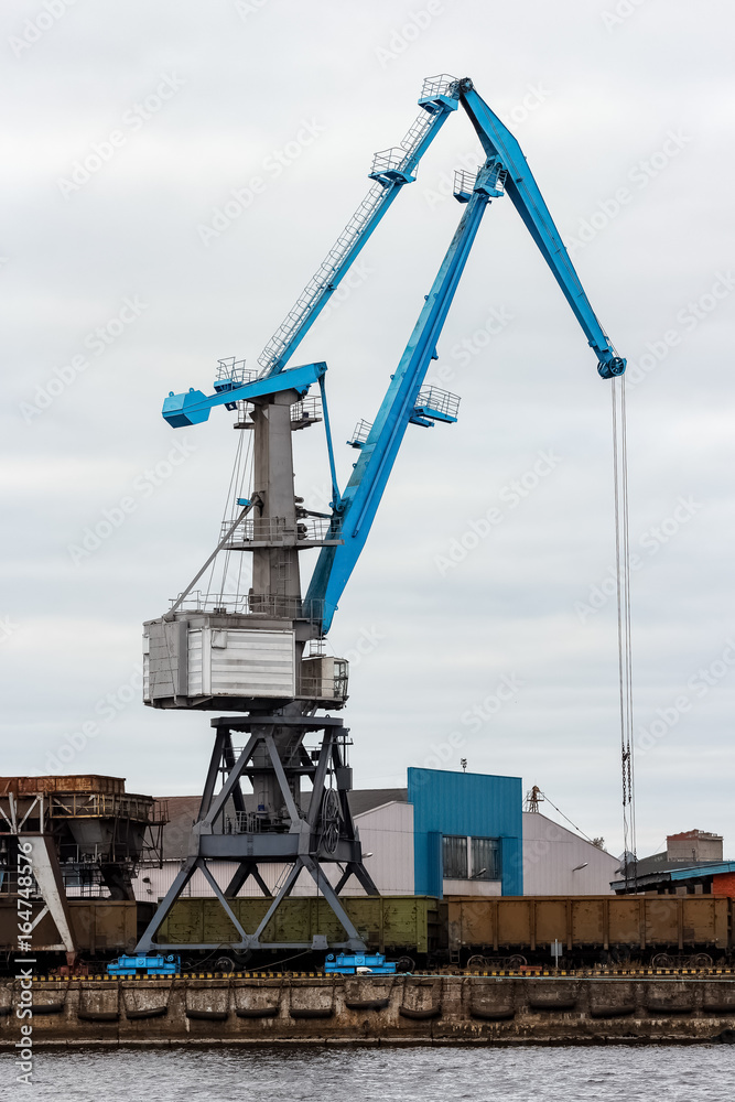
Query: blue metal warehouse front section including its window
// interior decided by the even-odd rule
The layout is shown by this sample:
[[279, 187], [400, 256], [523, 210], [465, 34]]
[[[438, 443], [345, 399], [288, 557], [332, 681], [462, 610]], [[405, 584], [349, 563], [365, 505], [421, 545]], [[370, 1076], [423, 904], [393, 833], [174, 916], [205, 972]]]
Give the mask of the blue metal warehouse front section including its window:
[[409, 768], [408, 781], [417, 895], [442, 897], [447, 880], [523, 894], [520, 777]]

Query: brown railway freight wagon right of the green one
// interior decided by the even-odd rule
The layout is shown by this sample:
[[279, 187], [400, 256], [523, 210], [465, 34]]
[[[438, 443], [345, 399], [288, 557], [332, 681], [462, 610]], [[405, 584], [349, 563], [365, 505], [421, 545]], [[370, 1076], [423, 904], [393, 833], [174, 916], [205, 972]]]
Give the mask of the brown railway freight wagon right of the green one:
[[444, 907], [450, 957], [462, 963], [512, 955], [549, 963], [554, 941], [570, 964], [635, 959], [666, 966], [687, 958], [706, 965], [733, 949], [726, 896], [451, 896]]

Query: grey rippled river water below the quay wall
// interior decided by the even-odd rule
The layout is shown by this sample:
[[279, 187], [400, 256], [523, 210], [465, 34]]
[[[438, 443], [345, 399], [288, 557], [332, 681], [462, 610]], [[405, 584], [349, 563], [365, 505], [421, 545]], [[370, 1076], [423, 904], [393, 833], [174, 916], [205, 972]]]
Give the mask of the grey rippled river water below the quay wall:
[[729, 1102], [735, 1047], [120, 1049], [0, 1055], [0, 1099], [42, 1102]]

